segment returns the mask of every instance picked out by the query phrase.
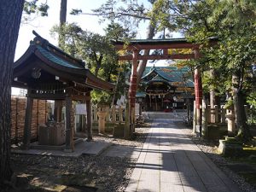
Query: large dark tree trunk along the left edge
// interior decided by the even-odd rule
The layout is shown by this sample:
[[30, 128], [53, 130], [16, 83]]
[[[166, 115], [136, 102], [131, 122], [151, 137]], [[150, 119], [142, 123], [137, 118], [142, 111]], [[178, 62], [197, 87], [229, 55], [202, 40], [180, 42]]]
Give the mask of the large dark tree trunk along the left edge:
[[10, 101], [15, 48], [24, 0], [3, 0], [0, 6], [0, 189], [12, 176], [10, 167]]

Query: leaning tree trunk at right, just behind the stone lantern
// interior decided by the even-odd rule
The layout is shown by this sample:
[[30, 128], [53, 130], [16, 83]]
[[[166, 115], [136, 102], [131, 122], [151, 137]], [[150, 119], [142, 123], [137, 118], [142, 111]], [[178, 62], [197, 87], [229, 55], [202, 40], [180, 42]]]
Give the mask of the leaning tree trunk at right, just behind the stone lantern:
[[239, 85], [238, 82], [238, 79], [240, 78], [241, 73], [233, 74], [232, 76], [236, 129], [238, 129], [237, 137], [241, 138], [243, 142], [248, 142], [253, 138], [253, 136], [247, 125], [247, 117], [244, 108], [244, 95], [241, 87], [239, 87], [241, 85]]

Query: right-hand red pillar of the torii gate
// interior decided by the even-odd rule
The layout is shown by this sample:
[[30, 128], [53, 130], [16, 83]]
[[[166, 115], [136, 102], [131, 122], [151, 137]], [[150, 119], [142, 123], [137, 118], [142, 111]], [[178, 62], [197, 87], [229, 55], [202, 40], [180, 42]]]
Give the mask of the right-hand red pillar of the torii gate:
[[[194, 49], [195, 60], [200, 58], [199, 49]], [[196, 126], [199, 128], [199, 136], [201, 137], [201, 119], [202, 119], [202, 110], [201, 110], [201, 102], [202, 102], [202, 84], [201, 84], [201, 70], [200, 67], [195, 67], [195, 110], [196, 110]], [[198, 130], [198, 129], [196, 129]]]

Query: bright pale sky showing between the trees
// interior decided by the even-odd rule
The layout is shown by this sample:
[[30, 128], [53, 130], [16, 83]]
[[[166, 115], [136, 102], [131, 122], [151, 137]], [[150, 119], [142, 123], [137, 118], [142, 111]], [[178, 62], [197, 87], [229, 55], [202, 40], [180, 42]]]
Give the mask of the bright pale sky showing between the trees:
[[[20, 58], [29, 47], [30, 41], [35, 37], [32, 34], [32, 30], [38, 32], [40, 36], [46, 38], [51, 44], [57, 45], [57, 39], [50, 36], [50, 29], [59, 24], [60, 20], [60, 7], [61, 0], [39, 0], [40, 3], [47, 1], [49, 5], [47, 17], [35, 17], [29, 22], [22, 22], [20, 25], [19, 37], [15, 51], [15, 61]], [[138, 0], [143, 2], [144, 5], [148, 4], [148, 0]], [[97, 32], [104, 34], [103, 28], [107, 26], [106, 23], [99, 23], [99, 18], [92, 15], [69, 15], [72, 9], [82, 9], [84, 13], [91, 13], [91, 9], [99, 8], [106, 0], [67, 0], [67, 22], [76, 22], [84, 30], [90, 32]], [[146, 38], [147, 23], [141, 23], [137, 38]], [[178, 34], [174, 34], [174, 38]], [[165, 61], [160, 61], [157, 65], [165, 65]], [[152, 63], [148, 63], [148, 66], [152, 66]], [[13, 94], [18, 94], [19, 90], [13, 89]]]

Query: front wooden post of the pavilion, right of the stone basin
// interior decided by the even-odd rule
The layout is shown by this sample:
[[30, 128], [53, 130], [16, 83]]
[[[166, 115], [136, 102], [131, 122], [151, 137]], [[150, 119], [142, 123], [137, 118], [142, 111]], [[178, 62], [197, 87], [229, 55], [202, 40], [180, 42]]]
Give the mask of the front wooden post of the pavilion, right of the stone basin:
[[65, 152], [73, 152], [73, 126], [71, 125], [72, 99], [66, 97], [66, 148]]

